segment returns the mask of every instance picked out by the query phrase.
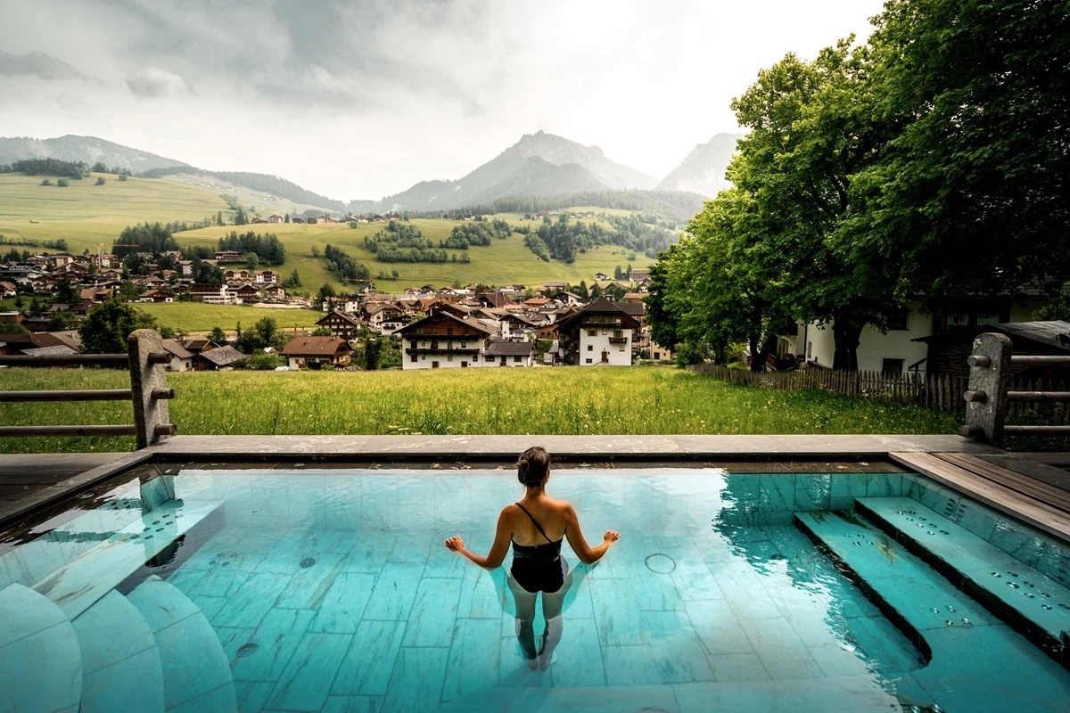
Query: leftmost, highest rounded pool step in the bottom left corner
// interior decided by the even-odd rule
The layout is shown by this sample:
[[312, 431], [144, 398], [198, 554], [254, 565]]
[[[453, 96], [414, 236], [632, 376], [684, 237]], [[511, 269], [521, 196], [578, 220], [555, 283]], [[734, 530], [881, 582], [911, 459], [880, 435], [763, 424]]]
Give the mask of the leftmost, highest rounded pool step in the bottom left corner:
[[81, 651], [63, 610], [20, 584], [0, 590], [0, 711], [77, 713]]

